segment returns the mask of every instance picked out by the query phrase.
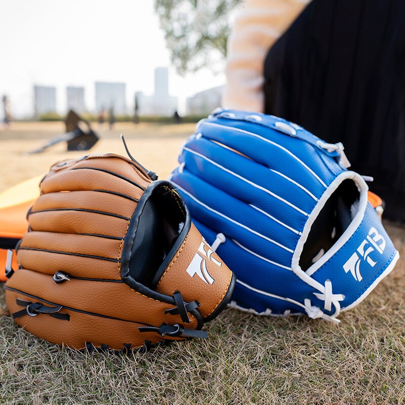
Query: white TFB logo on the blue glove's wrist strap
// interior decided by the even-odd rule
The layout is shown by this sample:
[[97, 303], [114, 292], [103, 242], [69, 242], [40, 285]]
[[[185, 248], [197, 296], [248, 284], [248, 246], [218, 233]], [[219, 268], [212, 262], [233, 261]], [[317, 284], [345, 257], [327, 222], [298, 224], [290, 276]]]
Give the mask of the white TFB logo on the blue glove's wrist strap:
[[[369, 255], [374, 251], [377, 251], [382, 255], [385, 249], [385, 244], [384, 237], [378, 233], [376, 228], [371, 227], [366, 239], [364, 239], [357, 248], [357, 252], [354, 252], [349, 260], [343, 265], [344, 271], [346, 273], [350, 271], [356, 281], [361, 281], [363, 279], [360, 273], [361, 258], [366, 260], [371, 267], [374, 267], [377, 264], [377, 261], [374, 261]], [[359, 253], [360, 256], [357, 253]]]

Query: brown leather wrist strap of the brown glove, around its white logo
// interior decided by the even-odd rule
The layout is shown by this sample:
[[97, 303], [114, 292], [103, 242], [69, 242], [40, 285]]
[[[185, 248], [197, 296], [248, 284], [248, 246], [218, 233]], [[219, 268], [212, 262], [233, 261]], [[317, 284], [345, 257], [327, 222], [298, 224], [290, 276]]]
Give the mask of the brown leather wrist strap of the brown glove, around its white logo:
[[[223, 301], [231, 283], [232, 272], [215, 252], [211, 253], [211, 260], [209, 260], [208, 255], [198, 251], [202, 241], [203, 237], [191, 224], [183, 245], [160, 278], [156, 290], [168, 295], [176, 290], [180, 291], [185, 301], [198, 301], [201, 304], [198, 310], [203, 317], [207, 317]], [[209, 246], [204, 244], [206, 253], [208, 249]], [[203, 278], [197, 273], [193, 276], [187, 273], [187, 268], [194, 257], [196, 265], [206, 264], [209, 275], [214, 279], [213, 284], [210, 284], [210, 278], [207, 281], [203, 272], [200, 273]], [[221, 265], [219, 266], [213, 259]]]

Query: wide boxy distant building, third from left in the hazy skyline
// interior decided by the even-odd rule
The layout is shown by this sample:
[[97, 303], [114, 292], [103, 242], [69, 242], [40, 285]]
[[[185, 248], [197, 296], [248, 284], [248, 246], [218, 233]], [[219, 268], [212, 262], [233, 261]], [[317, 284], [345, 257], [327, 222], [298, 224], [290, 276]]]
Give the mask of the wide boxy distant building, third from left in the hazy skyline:
[[114, 114], [126, 114], [125, 83], [96, 82], [96, 111], [114, 108]]

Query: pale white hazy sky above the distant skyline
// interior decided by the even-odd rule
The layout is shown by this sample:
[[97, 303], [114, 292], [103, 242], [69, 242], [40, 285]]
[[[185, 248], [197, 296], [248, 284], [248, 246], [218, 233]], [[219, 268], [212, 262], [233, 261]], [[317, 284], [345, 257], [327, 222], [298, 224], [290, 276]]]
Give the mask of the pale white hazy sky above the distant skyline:
[[[67, 85], [84, 86], [93, 109], [96, 80], [125, 82], [132, 106], [135, 91], [153, 93], [156, 66], [170, 59], [153, 0], [0, 0], [0, 95], [14, 115], [32, 114], [33, 84], [57, 87], [61, 113]], [[208, 69], [185, 78], [169, 71], [181, 109], [186, 96], [225, 82]]]

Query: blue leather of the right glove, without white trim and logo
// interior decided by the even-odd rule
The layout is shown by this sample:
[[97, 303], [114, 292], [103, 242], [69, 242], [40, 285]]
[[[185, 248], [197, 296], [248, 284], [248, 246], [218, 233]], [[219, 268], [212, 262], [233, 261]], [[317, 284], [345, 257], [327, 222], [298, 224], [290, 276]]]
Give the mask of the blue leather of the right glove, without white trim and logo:
[[[339, 163], [340, 155], [321, 148], [318, 140], [281, 118], [223, 111], [200, 121], [180, 153], [181, 166], [173, 171], [171, 181], [179, 187], [207, 241], [212, 244], [218, 233], [226, 236], [217, 252], [239, 281], [232, 300], [240, 307], [259, 313], [267, 309], [274, 314], [305, 313], [304, 301], [309, 299], [326, 314], [335, 312], [333, 305], [329, 311], [323, 308], [324, 302], [314, 295], [319, 290], [291, 270], [293, 252], [318, 199], [347, 171]], [[358, 280], [354, 270], [353, 276], [343, 265], [358, 252], [373, 227], [386, 246], [379, 253], [368, 241], [366, 250], [374, 251], [369, 249], [363, 256], [357, 253], [362, 277]], [[311, 277], [321, 286], [331, 280], [333, 294], [344, 294], [340, 305], [345, 307], [373, 284], [395, 252], [369, 205], [347, 243]]]

